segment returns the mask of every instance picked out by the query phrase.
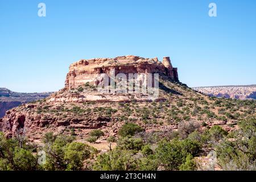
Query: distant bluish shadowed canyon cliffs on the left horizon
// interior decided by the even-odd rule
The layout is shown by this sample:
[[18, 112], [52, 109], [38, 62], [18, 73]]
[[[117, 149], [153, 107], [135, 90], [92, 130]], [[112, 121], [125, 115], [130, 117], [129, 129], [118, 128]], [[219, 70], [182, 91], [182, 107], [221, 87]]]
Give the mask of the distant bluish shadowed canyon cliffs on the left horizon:
[[46, 98], [51, 94], [47, 93], [18, 93], [6, 88], [0, 88], [0, 118], [7, 110], [19, 105]]

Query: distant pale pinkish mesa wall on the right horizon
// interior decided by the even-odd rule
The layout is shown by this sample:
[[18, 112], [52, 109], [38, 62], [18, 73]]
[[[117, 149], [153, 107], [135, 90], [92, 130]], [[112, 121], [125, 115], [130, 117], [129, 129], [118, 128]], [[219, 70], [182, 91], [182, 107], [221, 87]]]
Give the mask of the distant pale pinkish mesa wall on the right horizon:
[[192, 89], [215, 97], [256, 99], [256, 85], [205, 86]]

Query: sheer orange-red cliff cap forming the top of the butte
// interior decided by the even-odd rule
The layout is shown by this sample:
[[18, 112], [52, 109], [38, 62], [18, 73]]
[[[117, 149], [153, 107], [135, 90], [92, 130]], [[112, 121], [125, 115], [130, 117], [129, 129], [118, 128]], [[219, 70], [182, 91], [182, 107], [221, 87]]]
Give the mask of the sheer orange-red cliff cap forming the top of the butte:
[[65, 89], [78, 88], [86, 82], [96, 84], [97, 77], [102, 73], [110, 75], [110, 70], [118, 73], [160, 73], [179, 81], [177, 68], [173, 68], [170, 57], [160, 62], [157, 57], [143, 58], [139, 56], [118, 56], [115, 58], [96, 58], [79, 60], [69, 66], [65, 81]]

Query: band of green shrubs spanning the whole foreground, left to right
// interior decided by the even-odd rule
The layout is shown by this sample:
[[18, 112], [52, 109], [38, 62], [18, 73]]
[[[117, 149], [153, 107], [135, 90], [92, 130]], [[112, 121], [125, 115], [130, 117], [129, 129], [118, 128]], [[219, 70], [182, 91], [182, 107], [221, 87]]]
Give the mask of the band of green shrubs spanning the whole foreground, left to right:
[[[0, 133], [0, 169], [196, 170], [201, 167], [201, 156], [213, 151], [214, 165], [221, 169], [255, 170], [256, 119], [243, 119], [238, 125], [239, 129], [230, 133], [221, 126], [200, 130], [192, 123], [178, 131], [145, 133], [142, 127], [125, 123], [118, 139], [108, 139], [117, 146], [101, 155], [88, 144], [75, 142], [72, 135], [47, 133], [42, 138], [43, 146], [36, 146], [19, 138], [6, 139]], [[101, 130], [90, 133], [96, 139], [103, 135]], [[41, 151], [45, 152], [44, 163], [39, 163], [43, 160]]]

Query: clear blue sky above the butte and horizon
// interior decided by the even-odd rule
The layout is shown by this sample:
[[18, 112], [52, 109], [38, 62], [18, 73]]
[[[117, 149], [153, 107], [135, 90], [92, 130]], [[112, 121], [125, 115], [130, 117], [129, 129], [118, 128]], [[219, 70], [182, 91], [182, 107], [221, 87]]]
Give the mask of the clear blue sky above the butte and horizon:
[[188, 86], [256, 84], [255, 32], [254, 0], [1, 0], [0, 87], [56, 91], [69, 64], [121, 55], [170, 56]]

